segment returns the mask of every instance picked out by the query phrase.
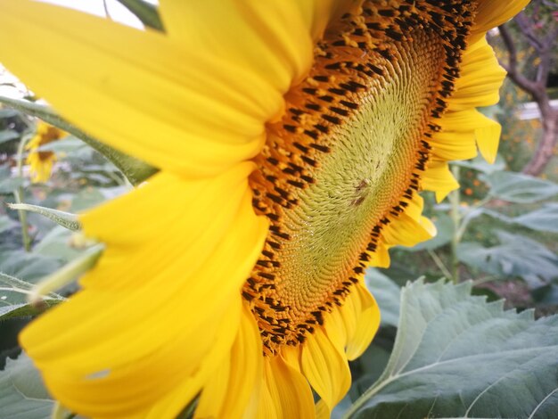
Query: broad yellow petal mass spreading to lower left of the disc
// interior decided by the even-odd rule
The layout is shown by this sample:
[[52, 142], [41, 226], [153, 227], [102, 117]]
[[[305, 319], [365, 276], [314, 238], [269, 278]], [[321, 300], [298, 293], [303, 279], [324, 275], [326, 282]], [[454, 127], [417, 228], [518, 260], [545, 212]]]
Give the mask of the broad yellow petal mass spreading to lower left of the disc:
[[[240, 288], [267, 234], [251, 207], [251, 169], [198, 181], [163, 172], [82, 217], [86, 234], [107, 244], [102, 259], [85, 291], [21, 334], [64, 406], [119, 416], [157, 406], [194, 376], [198, 387], [167, 405], [184, 407], [201, 390], [196, 372], [230, 351]], [[232, 335], [216, 346], [223, 327]]]

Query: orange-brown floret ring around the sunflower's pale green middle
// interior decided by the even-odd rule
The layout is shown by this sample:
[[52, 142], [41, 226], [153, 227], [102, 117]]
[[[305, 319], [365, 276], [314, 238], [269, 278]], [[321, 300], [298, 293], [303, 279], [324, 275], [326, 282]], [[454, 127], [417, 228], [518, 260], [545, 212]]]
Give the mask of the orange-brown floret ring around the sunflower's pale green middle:
[[[267, 144], [250, 177], [253, 207], [269, 218], [271, 226], [242, 296], [257, 318], [265, 354], [305, 341], [316, 325], [324, 324], [326, 313], [342, 305], [373, 259], [384, 226], [398, 218], [419, 190], [430, 155], [428, 140], [439, 130], [436, 119], [445, 111], [459, 76], [473, 13], [471, 2], [464, 0], [366, 1], [357, 12], [343, 15], [316, 45], [308, 77], [286, 94], [283, 119], [267, 127]], [[302, 297], [288, 295], [283, 253], [299, 240], [292, 220], [313, 222], [313, 216], [305, 213], [308, 193], [335, 152], [338, 133], [367, 109], [370, 94], [387, 88], [390, 79], [413, 78], [415, 69], [407, 68], [406, 60], [420, 53], [435, 60], [435, 66], [429, 75], [432, 83], [424, 86], [428, 100], [421, 104], [423, 115], [415, 122], [420, 138], [413, 146], [414, 164], [402, 171], [396, 201], [373, 216], [366, 241], [342, 261], [344, 272], [330, 272], [324, 280], [322, 275], [318, 282], [324, 283], [317, 285], [301, 284], [300, 292], [306, 292]], [[362, 208], [370, 187], [367, 179], [353, 185], [349, 207]], [[305, 296], [310, 303], [301, 301]]]

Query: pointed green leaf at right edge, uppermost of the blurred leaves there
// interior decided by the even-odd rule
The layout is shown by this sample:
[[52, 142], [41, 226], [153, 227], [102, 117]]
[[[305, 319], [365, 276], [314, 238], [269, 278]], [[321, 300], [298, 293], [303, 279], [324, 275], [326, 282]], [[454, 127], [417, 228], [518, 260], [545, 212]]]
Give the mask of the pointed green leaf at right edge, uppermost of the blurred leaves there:
[[490, 186], [490, 195], [508, 202], [530, 203], [558, 194], [553, 182], [513, 172], [495, 172], [483, 178]]

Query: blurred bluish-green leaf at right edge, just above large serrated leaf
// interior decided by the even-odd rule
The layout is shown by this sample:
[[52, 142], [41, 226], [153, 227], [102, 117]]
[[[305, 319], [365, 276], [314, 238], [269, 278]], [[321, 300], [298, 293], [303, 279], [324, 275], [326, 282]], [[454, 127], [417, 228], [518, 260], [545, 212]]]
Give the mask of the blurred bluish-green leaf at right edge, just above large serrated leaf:
[[558, 275], [558, 256], [541, 243], [520, 234], [496, 234], [501, 244], [485, 248], [478, 242], [462, 242], [457, 257], [492, 275], [521, 276], [527, 281], [536, 277], [548, 281]]

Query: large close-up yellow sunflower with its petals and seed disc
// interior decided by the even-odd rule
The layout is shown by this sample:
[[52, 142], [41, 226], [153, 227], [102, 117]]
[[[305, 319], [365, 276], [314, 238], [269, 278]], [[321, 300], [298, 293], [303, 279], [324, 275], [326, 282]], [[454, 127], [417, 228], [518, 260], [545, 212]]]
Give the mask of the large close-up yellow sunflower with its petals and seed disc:
[[418, 191], [457, 187], [447, 160], [495, 158], [485, 34], [525, 3], [161, 0], [160, 33], [0, 0], [0, 60], [160, 168], [81, 216], [103, 257], [21, 334], [53, 396], [94, 417], [197, 396], [196, 417], [328, 415], [379, 325], [365, 267], [435, 233]]

